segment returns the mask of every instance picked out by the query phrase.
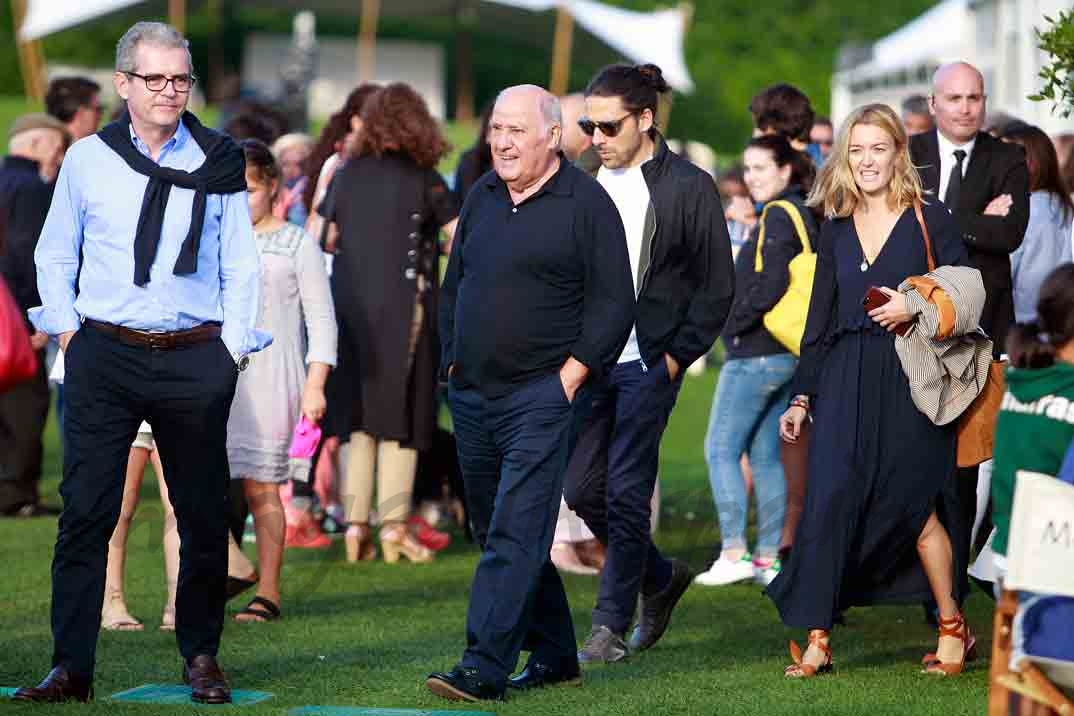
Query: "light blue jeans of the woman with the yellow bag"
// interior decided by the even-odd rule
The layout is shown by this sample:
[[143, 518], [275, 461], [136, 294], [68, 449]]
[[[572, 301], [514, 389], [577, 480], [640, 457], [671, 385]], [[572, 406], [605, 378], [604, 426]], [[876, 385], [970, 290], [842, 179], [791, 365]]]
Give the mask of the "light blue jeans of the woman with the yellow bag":
[[794, 355], [780, 353], [730, 360], [720, 372], [705, 458], [725, 550], [746, 549], [750, 506], [739, 461], [749, 453], [757, 498], [757, 552], [766, 557], [779, 552], [787, 507], [780, 461], [780, 415], [790, 399], [797, 364]]

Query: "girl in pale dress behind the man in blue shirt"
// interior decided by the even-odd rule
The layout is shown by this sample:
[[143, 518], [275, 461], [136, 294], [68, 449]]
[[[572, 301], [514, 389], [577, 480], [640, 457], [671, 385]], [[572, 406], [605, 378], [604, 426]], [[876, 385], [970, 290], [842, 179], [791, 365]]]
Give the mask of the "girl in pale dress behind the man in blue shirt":
[[[250, 219], [261, 258], [258, 328], [273, 345], [238, 377], [228, 421], [228, 463], [253, 514], [261, 579], [257, 595], [235, 618], [279, 617], [279, 572], [285, 516], [280, 484], [308, 479], [309, 461], [288, 456], [300, 417], [324, 417], [324, 381], [336, 362], [336, 322], [324, 262], [316, 242], [272, 213], [279, 166], [264, 143], [247, 140]], [[308, 368], [307, 368], [308, 365]]]

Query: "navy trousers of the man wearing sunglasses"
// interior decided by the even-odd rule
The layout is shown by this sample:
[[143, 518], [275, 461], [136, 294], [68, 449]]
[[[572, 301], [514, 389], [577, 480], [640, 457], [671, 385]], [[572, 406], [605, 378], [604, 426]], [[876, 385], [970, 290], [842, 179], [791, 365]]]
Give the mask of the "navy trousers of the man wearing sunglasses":
[[620, 363], [593, 391], [593, 404], [567, 468], [567, 505], [607, 547], [593, 625], [625, 633], [638, 593], [653, 595], [671, 564], [653, 543], [651, 510], [661, 438], [679, 395], [667, 362]]

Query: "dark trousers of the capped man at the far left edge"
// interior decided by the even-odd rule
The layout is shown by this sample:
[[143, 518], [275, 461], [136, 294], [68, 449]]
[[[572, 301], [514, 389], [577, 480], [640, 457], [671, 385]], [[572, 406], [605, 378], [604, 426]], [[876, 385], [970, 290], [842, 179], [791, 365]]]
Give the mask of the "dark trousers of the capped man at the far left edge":
[[38, 371], [26, 382], [0, 393], [0, 514], [37, 505], [48, 420], [45, 352], [38, 351]]

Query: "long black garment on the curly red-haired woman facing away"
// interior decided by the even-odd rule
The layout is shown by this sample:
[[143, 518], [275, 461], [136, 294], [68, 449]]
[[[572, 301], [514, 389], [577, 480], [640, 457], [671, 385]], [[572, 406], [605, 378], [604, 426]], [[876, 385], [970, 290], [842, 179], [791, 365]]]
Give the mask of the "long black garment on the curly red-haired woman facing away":
[[[369, 155], [336, 173], [321, 214], [339, 228], [332, 269], [336, 385], [350, 396], [350, 429], [426, 450], [437, 412], [437, 238], [459, 214], [455, 199], [435, 170], [402, 155]], [[416, 301], [424, 317], [411, 351]]]

